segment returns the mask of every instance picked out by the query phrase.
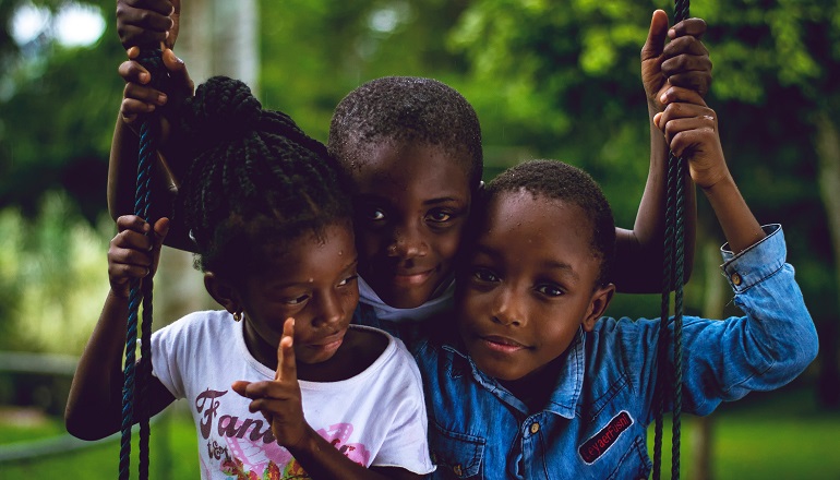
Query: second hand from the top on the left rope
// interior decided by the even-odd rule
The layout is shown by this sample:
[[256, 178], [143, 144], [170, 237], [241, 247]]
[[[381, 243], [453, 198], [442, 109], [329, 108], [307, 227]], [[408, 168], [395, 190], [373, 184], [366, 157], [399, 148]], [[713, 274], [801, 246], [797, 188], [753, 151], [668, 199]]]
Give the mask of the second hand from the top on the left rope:
[[[120, 105], [120, 118], [135, 133], [137, 133], [140, 118], [165, 105], [177, 105], [184, 98], [193, 95], [193, 82], [187, 72], [183, 61], [166, 49], [163, 52], [164, 65], [169, 72], [169, 84], [173, 92], [168, 95], [148, 86], [152, 81], [149, 72], [134, 59], [140, 55], [140, 48], [132, 47], [128, 50], [129, 60], [122, 62], [118, 70], [125, 81], [122, 104]], [[164, 110], [166, 111], [166, 110]], [[160, 142], [165, 144], [170, 134], [171, 121], [166, 115], [160, 116]]]

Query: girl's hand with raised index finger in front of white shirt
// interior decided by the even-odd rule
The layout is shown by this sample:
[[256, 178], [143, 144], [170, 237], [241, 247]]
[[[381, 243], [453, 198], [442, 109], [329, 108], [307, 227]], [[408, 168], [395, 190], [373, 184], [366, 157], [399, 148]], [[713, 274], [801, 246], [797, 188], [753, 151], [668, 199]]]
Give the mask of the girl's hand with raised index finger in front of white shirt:
[[249, 410], [260, 411], [272, 424], [277, 443], [288, 449], [300, 446], [312, 430], [303, 418], [303, 406], [295, 363], [295, 319], [286, 319], [277, 347], [277, 372], [273, 382], [235, 382], [232, 388], [252, 398]]

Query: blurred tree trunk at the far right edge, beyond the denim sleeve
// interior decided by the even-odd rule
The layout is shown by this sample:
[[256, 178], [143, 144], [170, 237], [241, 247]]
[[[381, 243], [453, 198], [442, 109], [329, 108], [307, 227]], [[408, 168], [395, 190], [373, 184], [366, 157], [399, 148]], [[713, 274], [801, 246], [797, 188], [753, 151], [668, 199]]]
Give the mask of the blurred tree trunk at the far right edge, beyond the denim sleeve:
[[[819, 160], [819, 192], [828, 216], [828, 228], [831, 236], [831, 247], [835, 254], [835, 275], [837, 276], [838, 295], [840, 299], [840, 132], [825, 111], [817, 113], [816, 152]], [[820, 332], [820, 371], [819, 399], [823, 406], [840, 408], [840, 365], [838, 365], [837, 319]]]

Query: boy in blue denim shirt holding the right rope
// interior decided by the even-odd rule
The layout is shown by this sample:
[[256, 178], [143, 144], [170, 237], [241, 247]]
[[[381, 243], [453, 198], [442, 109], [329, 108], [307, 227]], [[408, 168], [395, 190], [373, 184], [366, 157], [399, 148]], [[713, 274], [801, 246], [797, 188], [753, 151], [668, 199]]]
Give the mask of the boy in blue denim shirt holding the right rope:
[[[668, 103], [656, 123], [718, 216], [746, 315], [684, 317], [683, 411], [708, 415], [793, 380], [817, 337], [781, 227], [759, 227], [741, 197], [715, 112], [684, 89]], [[459, 335], [441, 328], [416, 355], [434, 477], [647, 478], [653, 389], [673, 364], [657, 362], [659, 320], [601, 319], [615, 287], [600, 189], [568, 165], [530, 161], [488, 185], [481, 212], [459, 272]]]

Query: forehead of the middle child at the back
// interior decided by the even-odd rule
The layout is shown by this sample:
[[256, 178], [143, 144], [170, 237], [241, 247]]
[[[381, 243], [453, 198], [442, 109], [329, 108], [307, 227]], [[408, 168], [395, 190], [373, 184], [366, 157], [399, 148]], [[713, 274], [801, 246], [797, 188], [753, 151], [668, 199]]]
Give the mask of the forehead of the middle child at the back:
[[349, 166], [357, 193], [416, 192], [421, 196], [468, 196], [469, 157], [423, 142], [386, 141], [360, 148]]

